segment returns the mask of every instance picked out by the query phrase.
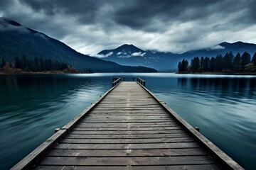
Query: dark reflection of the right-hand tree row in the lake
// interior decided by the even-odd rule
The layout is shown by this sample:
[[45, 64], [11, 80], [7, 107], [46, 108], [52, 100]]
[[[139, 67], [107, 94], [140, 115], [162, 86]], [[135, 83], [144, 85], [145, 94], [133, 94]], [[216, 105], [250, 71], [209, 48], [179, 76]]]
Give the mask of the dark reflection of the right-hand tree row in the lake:
[[225, 96], [255, 96], [255, 78], [178, 78], [178, 86], [188, 86], [190, 91], [206, 91], [221, 97]]

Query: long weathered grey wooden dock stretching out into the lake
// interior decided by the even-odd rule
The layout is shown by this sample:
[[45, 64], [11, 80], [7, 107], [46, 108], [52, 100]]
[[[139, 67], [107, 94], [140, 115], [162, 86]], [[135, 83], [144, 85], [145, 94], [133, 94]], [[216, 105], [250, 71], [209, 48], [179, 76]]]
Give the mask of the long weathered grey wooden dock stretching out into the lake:
[[242, 169], [140, 80], [115, 79], [12, 169]]

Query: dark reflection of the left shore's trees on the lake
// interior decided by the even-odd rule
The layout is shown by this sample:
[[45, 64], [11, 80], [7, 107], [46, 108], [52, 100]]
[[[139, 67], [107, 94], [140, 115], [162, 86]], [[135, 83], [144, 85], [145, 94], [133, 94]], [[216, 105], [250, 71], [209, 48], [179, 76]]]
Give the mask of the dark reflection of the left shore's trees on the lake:
[[[93, 89], [97, 79], [67, 75], [4, 75], [0, 77], [0, 102], [38, 104], [63, 100], [81, 89]], [[101, 86], [104, 86], [101, 85]]]

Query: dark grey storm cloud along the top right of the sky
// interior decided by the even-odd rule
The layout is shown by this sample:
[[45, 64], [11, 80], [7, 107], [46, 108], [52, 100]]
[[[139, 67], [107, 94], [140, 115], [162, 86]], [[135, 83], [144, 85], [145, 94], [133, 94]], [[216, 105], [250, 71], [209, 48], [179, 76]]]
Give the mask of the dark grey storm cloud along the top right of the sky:
[[[114, 11], [114, 21], [134, 29], [147, 29], [154, 20], [165, 23], [206, 20], [213, 15], [223, 18], [246, 8], [241, 18], [246, 16], [250, 23], [255, 20], [255, 1], [134, 1]], [[220, 18], [211, 18], [219, 20]], [[239, 22], [241, 22], [239, 18]], [[157, 29], [157, 28], [156, 28]]]

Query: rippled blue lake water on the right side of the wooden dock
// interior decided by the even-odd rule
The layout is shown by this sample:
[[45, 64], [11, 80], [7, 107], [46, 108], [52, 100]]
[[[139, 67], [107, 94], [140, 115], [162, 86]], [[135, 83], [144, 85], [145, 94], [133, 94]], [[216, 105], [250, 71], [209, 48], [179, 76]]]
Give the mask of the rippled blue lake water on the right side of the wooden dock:
[[246, 169], [256, 152], [256, 77], [147, 79], [147, 87]]

